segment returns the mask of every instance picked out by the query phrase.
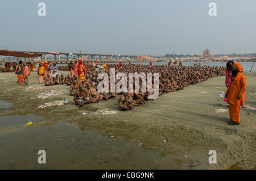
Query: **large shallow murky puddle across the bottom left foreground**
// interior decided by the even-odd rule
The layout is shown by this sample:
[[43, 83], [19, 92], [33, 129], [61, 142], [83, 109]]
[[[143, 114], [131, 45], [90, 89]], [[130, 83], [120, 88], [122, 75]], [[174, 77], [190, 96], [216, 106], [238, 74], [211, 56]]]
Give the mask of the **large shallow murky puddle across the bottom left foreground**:
[[[179, 169], [154, 150], [75, 124], [0, 132], [0, 169]], [[46, 164], [38, 151], [46, 151]]]

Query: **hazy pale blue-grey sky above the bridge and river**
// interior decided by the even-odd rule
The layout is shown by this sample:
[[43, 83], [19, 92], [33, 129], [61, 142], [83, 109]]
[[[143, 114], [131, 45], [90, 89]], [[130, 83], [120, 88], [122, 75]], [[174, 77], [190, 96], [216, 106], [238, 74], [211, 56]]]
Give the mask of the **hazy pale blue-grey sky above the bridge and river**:
[[[38, 3], [46, 16], [38, 16]], [[217, 16], [209, 16], [210, 2]], [[0, 49], [113, 54], [256, 52], [255, 0], [1, 0]]]

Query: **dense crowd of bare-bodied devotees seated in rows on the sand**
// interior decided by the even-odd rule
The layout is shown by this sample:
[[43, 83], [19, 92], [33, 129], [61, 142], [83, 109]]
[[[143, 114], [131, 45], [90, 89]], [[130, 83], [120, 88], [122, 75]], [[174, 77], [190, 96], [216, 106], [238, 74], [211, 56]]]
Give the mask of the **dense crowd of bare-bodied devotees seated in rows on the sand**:
[[[74, 101], [77, 106], [84, 106], [89, 103], [96, 103], [100, 100], [108, 100], [114, 98], [118, 94], [121, 96], [118, 99], [119, 110], [131, 110], [134, 106], [139, 106], [144, 104], [148, 99], [149, 92], [98, 92], [97, 85], [101, 80], [97, 80], [97, 75], [99, 72], [93, 71], [93, 67], [86, 66], [86, 78], [82, 80], [80, 85], [77, 85], [77, 77], [71, 77], [68, 75], [65, 78], [66, 85], [71, 85], [70, 94], [74, 96]], [[159, 73], [159, 95], [164, 93], [183, 90], [183, 87], [189, 85], [195, 85], [196, 83], [207, 81], [208, 78], [217, 77], [225, 75], [225, 68], [223, 67], [193, 67], [193, 66], [171, 66], [166, 65], [150, 66], [147, 65], [123, 65], [122, 69], [118, 68], [118, 65], [108, 65], [108, 68], [115, 68], [115, 74], [118, 72], [128, 73], [134, 72], [151, 72]], [[109, 74], [109, 87], [110, 87], [110, 73]], [[154, 80], [154, 78], [152, 78]], [[117, 83], [119, 80], [115, 80]], [[127, 78], [127, 82], [128, 78]], [[140, 79], [141, 85], [141, 79]], [[154, 84], [152, 84], [154, 88]], [[128, 90], [128, 87], [127, 87]], [[152, 93], [153, 94], [153, 93]], [[151, 99], [154, 100], [154, 99]]]

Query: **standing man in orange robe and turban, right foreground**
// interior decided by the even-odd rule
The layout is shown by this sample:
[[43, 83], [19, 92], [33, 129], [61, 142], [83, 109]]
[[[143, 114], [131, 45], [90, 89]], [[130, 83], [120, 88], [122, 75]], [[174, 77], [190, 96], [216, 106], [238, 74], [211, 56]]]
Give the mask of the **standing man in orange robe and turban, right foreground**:
[[226, 91], [225, 98], [229, 104], [230, 123], [232, 125], [240, 124], [240, 106], [245, 106], [246, 77], [241, 72], [243, 67], [240, 62], [233, 65], [232, 81]]

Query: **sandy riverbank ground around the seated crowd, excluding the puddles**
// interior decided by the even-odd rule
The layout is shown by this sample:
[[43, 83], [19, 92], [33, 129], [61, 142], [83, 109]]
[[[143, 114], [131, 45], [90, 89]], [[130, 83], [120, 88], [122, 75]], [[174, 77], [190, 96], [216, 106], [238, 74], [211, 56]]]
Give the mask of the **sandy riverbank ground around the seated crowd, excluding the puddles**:
[[[245, 105], [256, 107], [256, 76], [246, 73], [246, 77]], [[256, 169], [256, 111], [243, 108], [241, 124], [236, 126], [227, 124], [229, 121], [227, 104], [219, 96], [221, 91], [226, 91], [225, 77], [212, 78], [195, 86], [185, 87], [184, 90], [164, 94], [154, 101], [146, 102], [145, 105], [125, 112], [118, 110], [118, 97], [81, 108], [77, 107], [73, 102], [73, 96], [69, 95], [69, 86], [39, 85], [36, 73], [30, 75], [28, 86], [42, 86], [41, 92], [63, 91], [63, 95], [51, 96], [47, 99], [37, 98], [40, 92], [26, 91], [28, 86], [18, 86], [15, 83], [14, 73], [0, 73], [0, 81], [0, 100], [12, 104], [9, 108], [0, 108], [1, 117], [30, 114], [42, 117], [32, 124], [30, 129], [27, 129], [24, 124], [0, 127], [1, 136], [15, 130], [28, 132], [32, 129], [54, 127], [58, 123], [73, 121], [77, 127], [105, 134], [109, 140], [122, 138], [132, 144], [141, 144], [142, 148], [147, 148], [149, 151], [154, 151], [164, 161], [162, 166], [159, 165], [159, 169]], [[36, 111], [36, 107], [43, 103], [63, 99], [68, 99], [69, 103]], [[116, 113], [113, 115], [94, 113], [102, 109], [109, 109]], [[83, 112], [88, 114], [82, 115]], [[51, 136], [48, 134], [47, 138], [50, 139]], [[115, 138], [110, 138], [112, 135]], [[97, 142], [95, 146], [97, 147]], [[209, 164], [209, 150], [217, 151], [217, 164]], [[188, 155], [188, 158], [184, 155]], [[109, 168], [110, 163], [96, 165], [94, 169]], [[189, 167], [191, 163], [196, 163], [196, 166]], [[18, 168], [22, 169], [22, 166]], [[81, 169], [84, 168], [88, 167], [81, 166]], [[122, 167], [122, 164], [116, 164], [110, 168], [133, 167], [131, 165]]]

